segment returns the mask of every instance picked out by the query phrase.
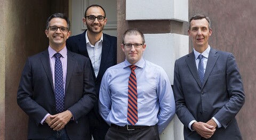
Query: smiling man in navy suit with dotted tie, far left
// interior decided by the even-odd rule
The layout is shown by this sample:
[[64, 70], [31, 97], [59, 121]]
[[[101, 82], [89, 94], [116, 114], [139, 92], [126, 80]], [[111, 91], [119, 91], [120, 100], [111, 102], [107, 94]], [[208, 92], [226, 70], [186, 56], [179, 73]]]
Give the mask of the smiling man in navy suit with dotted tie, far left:
[[29, 57], [23, 68], [17, 102], [29, 116], [28, 139], [90, 139], [86, 115], [97, 96], [90, 60], [66, 48], [69, 29], [64, 14], [51, 15], [45, 30], [48, 49]]

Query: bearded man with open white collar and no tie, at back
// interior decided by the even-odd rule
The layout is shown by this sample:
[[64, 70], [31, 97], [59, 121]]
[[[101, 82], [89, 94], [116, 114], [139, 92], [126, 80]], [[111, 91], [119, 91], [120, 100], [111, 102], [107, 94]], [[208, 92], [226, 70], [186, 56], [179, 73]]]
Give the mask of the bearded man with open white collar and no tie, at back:
[[[106, 12], [100, 5], [86, 8], [83, 22], [87, 27], [82, 34], [70, 37], [67, 48], [90, 58], [95, 90], [99, 95], [102, 76], [110, 66], [116, 65], [116, 37], [102, 33], [107, 23]], [[89, 113], [90, 133], [94, 140], [105, 138], [109, 125], [99, 115], [98, 101]]]

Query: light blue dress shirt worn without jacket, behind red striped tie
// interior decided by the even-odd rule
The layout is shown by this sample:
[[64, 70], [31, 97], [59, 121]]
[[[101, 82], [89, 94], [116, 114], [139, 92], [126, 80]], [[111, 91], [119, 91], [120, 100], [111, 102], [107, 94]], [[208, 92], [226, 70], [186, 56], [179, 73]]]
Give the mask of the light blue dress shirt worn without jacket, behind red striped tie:
[[[131, 65], [127, 60], [107, 69], [99, 94], [99, 112], [110, 125], [127, 123], [128, 80]], [[135, 63], [138, 92], [138, 126], [158, 125], [161, 133], [175, 113], [173, 91], [164, 69], [141, 58]]]

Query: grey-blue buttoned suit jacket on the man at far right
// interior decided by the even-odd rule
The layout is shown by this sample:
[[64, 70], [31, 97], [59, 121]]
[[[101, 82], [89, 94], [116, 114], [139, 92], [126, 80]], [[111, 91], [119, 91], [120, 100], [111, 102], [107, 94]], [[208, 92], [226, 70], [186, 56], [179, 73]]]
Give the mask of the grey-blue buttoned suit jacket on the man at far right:
[[245, 96], [233, 54], [211, 48], [202, 86], [194, 52], [179, 58], [174, 67], [173, 90], [185, 139], [201, 139], [188, 128], [190, 121], [206, 123], [212, 117], [222, 127], [217, 128], [210, 139], [242, 139], [235, 116]]

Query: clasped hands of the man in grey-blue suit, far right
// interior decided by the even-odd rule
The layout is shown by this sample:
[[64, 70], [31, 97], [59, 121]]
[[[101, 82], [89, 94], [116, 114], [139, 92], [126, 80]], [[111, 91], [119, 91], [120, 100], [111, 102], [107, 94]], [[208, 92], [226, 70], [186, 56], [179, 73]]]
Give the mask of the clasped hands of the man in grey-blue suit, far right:
[[204, 138], [210, 138], [214, 132], [215, 128], [212, 125], [203, 123], [203, 122], [195, 122], [191, 125], [192, 129], [196, 130], [196, 132]]

